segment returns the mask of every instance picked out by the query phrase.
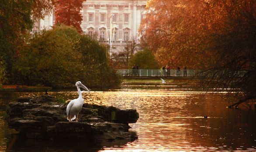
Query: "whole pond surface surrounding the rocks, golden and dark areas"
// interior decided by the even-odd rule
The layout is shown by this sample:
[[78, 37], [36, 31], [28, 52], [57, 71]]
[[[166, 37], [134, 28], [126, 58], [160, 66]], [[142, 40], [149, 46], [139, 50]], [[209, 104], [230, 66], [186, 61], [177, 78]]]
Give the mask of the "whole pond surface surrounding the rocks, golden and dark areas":
[[[140, 118], [129, 124], [130, 130], [138, 135], [133, 142], [90, 145], [82, 141], [63, 144], [19, 139], [17, 132], [8, 129], [4, 120], [8, 102], [19, 96], [42, 94], [0, 92], [0, 152], [256, 151], [255, 110], [229, 109], [224, 94], [190, 89], [120, 89], [83, 93], [88, 103], [137, 109]], [[49, 92], [49, 95], [68, 101], [77, 98], [76, 91]]]

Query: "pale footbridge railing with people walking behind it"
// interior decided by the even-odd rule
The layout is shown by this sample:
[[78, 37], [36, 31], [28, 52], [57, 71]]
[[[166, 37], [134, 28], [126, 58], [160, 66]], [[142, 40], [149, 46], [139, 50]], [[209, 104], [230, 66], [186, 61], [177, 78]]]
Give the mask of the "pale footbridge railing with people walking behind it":
[[200, 70], [195, 69], [118, 69], [120, 76], [195, 76]]

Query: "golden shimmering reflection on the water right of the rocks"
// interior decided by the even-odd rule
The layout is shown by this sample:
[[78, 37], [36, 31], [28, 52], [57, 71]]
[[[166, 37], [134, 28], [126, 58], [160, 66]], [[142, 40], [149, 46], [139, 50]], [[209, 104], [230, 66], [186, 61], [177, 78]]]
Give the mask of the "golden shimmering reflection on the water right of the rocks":
[[[137, 109], [140, 115], [138, 122], [130, 124], [131, 130], [138, 133], [138, 140], [121, 148], [105, 147], [103, 151], [231, 151], [235, 145], [235, 142], [225, 144], [230, 141], [222, 137], [230, 128], [225, 127], [228, 125], [225, 122], [228, 102], [223, 96], [194, 91], [138, 89], [93, 92], [84, 94], [84, 97], [85, 102], [93, 104]], [[205, 115], [208, 119], [204, 119]], [[236, 137], [232, 138], [235, 140]], [[223, 141], [218, 142], [219, 139]]]

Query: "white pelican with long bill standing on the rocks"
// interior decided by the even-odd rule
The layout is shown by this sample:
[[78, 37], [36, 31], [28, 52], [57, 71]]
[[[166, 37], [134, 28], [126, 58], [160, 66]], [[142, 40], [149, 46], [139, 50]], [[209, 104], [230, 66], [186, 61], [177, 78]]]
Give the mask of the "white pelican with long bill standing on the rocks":
[[81, 111], [83, 106], [83, 96], [80, 88], [83, 88], [90, 93], [89, 89], [86, 88], [86, 86], [84, 86], [83, 83], [81, 83], [80, 81], [76, 82], [76, 87], [77, 87], [79, 97], [77, 99], [71, 100], [66, 109], [67, 120], [69, 120], [69, 122], [71, 122], [74, 119], [76, 119], [76, 122], [77, 122], [78, 114]]

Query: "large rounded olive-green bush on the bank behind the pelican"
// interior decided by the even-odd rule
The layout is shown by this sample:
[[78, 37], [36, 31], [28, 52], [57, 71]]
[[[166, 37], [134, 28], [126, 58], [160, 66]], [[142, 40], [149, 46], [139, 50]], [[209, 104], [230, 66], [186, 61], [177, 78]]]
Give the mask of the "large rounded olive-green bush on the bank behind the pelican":
[[81, 69], [77, 59], [81, 54], [74, 51], [79, 34], [68, 26], [57, 26], [53, 30], [36, 35], [24, 49], [15, 63], [16, 82], [27, 85], [42, 84], [54, 87], [73, 86], [76, 69]]

